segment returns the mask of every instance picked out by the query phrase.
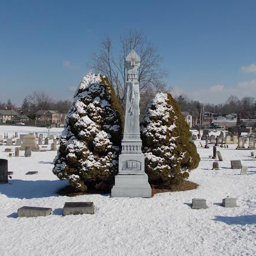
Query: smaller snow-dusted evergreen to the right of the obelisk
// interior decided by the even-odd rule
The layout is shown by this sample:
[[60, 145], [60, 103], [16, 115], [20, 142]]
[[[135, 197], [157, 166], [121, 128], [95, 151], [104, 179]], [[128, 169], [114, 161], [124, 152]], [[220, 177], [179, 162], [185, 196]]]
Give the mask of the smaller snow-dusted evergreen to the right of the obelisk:
[[149, 182], [180, 183], [199, 165], [196, 146], [189, 141], [189, 125], [170, 94], [158, 93], [141, 122], [142, 151]]

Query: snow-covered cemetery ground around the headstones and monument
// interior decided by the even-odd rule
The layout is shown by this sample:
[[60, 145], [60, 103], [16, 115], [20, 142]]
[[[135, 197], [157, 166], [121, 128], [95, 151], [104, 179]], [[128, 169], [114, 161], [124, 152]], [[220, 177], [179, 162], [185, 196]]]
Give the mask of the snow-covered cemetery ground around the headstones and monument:
[[[0, 126], [0, 135], [15, 131], [47, 134], [46, 128]], [[51, 129], [54, 135], [61, 131]], [[211, 170], [212, 145], [195, 143], [201, 162], [189, 180], [199, 187], [151, 199], [58, 196], [56, 190], [67, 183], [52, 173], [56, 151], [32, 152], [31, 158], [21, 151], [21, 157], [8, 158], [6, 146], [0, 146], [0, 158], [8, 159], [14, 172], [9, 185], [0, 185], [0, 255], [256, 255], [256, 159], [235, 145], [218, 147], [224, 161], [220, 170]], [[236, 159], [248, 166], [246, 176], [230, 169]], [[30, 170], [39, 174], [25, 175]], [[240, 207], [221, 207], [227, 196], [236, 197]], [[193, 198], [206, 199], [209, 208], [192, 210]], [[94, 202], [95, 214], [62, 216], [65, 202], [81, 201]], [[17, 218], [22, 206], [51, 207], [53, 213]]]

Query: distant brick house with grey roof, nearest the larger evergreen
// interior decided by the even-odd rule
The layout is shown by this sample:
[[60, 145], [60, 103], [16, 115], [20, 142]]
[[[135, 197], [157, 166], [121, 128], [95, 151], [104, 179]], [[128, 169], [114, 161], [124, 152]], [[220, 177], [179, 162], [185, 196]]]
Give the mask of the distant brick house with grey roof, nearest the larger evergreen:
[[57, 110], [38, 110], [35, 112], [36, 125], [60, 124], [62, 122], [62, 115]]

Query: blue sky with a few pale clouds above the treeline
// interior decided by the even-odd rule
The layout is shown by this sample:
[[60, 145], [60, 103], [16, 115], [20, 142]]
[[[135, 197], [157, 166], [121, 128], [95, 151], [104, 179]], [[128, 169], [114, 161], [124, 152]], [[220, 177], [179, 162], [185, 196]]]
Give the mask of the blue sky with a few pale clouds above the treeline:
[[0, 2], [0, 101], [71, 98], [101, 38], [144, 32], [175, 93], [205, 103], [256, 96], [256, 1]]

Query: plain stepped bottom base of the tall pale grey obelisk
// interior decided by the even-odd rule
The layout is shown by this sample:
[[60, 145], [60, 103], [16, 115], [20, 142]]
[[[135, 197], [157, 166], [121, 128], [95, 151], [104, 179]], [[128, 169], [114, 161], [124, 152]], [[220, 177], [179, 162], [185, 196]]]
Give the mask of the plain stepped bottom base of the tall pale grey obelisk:
[[152, 197], [148, 175], [118, 174], [115, 176], [111, 197]]

